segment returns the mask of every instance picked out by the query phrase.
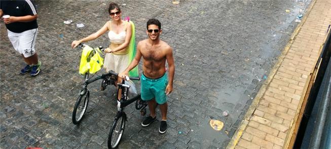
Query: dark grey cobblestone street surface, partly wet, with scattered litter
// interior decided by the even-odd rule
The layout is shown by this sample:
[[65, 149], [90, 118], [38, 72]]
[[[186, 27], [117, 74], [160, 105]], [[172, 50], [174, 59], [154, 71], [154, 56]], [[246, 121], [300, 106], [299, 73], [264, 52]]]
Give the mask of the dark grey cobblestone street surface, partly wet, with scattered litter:
[[[309, 1], [116, 1], [136, 25], [136, 40], [147, 38], [145, 23], [162, 23], [161, 39], [174, 48], [174, 91], [168, 96], [168, 130], [158, 121], [142, 128], [134, 104], [120, 148], [224, 148], [238, 128], [296, 27]], [[81, 50], [70, 43], [97, 31], [108, 19], [108, 1], [36, 1], [39, 34], [36, 49], [43, 62], [38, 77], [20, 76], [24, 62], [1, 25], [0, 146], [24, 148], [106, 148], [116, 115], [114, 87], [89, 86], [90, 103], [80, 125], [71, 114], [83, 77]], [[285, 10], [289, 10], [286, 13]], [[72, 20], [71, 24], [63, 21]], [[85, 27], [78, 28], [76, 24]], [[91, 46], [108, 46], [106, 34]], [[141, 65], [139, 65], [141, 68]], [[104, 71], [97, 73], [100, 75]], [[141, 73], [140, 73], [141, 74]], [[139, 83], [137, 86], [140, 85]], [[227, 117], [222, 116], [228, 110]], [[211, 119], [224, 122], [213, 130]]]

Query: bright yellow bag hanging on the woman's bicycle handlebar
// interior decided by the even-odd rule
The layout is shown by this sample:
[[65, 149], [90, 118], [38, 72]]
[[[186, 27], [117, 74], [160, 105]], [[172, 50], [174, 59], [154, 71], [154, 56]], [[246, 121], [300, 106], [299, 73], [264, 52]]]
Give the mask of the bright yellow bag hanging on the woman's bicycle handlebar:
[[103, 66], [103, 58], [100, 56], [99, 52], [101, 53], [98, 48], [93, 49], [89, 46], [84, 46], [81, 64], [79, 66], [79, 73], [85, 74], [88, 71], [89, 73], [95, 73], [101, 69]]

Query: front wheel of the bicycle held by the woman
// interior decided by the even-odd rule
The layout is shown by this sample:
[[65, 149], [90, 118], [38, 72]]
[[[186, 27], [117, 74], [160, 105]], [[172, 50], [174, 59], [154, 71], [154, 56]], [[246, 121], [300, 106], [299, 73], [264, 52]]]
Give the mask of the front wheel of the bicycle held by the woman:
[[[89, 98], [90, 98], [90, 92], [86, 91], [85, 94], [83, 95], [79, 95], [75, 107], [73, 108], [72, 111], [72, 123], [77, 125], [79, 124], [83, 117], [84, 114], [86, 112], [87, 106], [89, 104]], [[82, 102], [83, 100], [83, 102]], [[83, 105], [81, 105], [81, 103], [83, 103]], [[78, 114], [78, 116], [77, 116]]]

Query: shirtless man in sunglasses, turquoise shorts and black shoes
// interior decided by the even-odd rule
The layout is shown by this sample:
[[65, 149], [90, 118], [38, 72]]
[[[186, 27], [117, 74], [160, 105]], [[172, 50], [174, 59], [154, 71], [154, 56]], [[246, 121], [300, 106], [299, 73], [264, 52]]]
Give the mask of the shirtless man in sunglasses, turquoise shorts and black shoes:
[[[149, 39], [140, 41], [137, 45], [137, 52], [131, 64], [119, 74], [119, 78], [124, 79], [128, 72], [138, 65], [142, 56], [142, 70], [141, 75], [141, 99], [148, 101], [150, 108], [150, 116], [141, 123], [143, 127], [149, 126], [156, 120], [156, 103], [160, 105], [161, 109], [161, 125], [159, 127], [160, 133], [165, 133], [167, 130], [167, 96], [172, 91], [173, 77], [175, 72], [175, 65], [172, 56], [172, 48], [165, 42], [159, 39], [162, 33], [161, 23], [157, 19], [150, 19], [147, 22], [146, 33]], [[167, 80], [165, 62], [169, 66], [169, 82]]]

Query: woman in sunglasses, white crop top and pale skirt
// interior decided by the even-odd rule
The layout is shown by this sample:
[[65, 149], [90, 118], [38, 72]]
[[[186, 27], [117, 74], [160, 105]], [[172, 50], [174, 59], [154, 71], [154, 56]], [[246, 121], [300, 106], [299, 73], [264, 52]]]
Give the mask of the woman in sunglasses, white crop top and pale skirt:
[[79, 41], [73, 41], [71, 47], [75, 48], [80, 43], [97, 39], [100, 35], [108, 32], [111, 44], [105, 49], [107, 53], [104, 59], [103, 68], [106, 72], [114, 70], [120, 73], [129, 65], [129, 45], [132, 35], [131, 24], [122, 20], [122, 12], [116, 3], [109, 4], [108, 8], [111, 21], [107, 21], [97, 32], [87, 36]]

